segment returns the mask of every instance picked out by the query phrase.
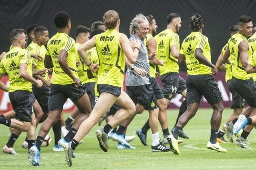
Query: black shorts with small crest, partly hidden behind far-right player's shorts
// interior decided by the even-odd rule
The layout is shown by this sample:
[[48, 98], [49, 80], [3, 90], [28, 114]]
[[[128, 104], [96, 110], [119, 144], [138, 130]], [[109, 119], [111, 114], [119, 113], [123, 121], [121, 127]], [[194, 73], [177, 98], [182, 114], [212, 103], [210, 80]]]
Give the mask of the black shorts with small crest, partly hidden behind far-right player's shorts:
[[231, 109], [242, 109], [245, 105], [245, 100], [238, 94], [234, 89], [232, 84], [232, 79], [227, 81], [227, 87], [230, 93], [232, 94], [232, 104]]

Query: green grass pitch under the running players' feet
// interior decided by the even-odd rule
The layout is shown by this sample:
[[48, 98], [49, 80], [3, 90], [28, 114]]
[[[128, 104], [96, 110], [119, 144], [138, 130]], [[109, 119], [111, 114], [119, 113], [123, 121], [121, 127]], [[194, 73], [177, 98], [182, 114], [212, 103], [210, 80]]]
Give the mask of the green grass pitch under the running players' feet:
[[[224, 109], [222, 116], [222, 124], [231, 114], [230, 109]], [[210, 116], [211, 109], [199, 109], [195, 117], [188, 122], [184, 131], [189, 135], [188, 140], [183, 140], [179, 144], [180, 155], [174, 155], [172, 152], [152, 153], [150, 151], [151, 132], [148, 131], [147, 143], [149, 146], [142, 146], [138, 137], [130, 143], [136, 147], [135, 150], [117, 150], [116, 143], [109, 140], [110, 150], [107, 153], [101, 151], [95, 137], [95, 131], [98, 126], [83, 139], [83, 143], [76, 150], [76, 158], [72, 159], [73, 169], [86, 170], [107, 170], [107, 169], [139, 169], [139, 170], [158, 170], [158, 169], [254, 169], [255, 161], [255, 132], [249, 135], [249, 143], [252, 150], [244, 150], [233, 143], [221, 144], [227, 149], [227, 153], [218, 153], [206, 148], [206, 144], [210, 135]], [[171, 130], [177, 116], [178, 110], [168, 111], [168, 123]], [[65, 115], [66, 117], [67, 115]], [[127, 135], [136, 135], [136, 130], [141, 128], [148, 118], [148, 113], [144, 112], [137, 115], [127, 130]], [[221, 125], [222, 126], [222, 125]], [[7, 142], [8, 128], [0, 125], [0, 146], [4, 146]], [[159, 134], [162, 139], [162, 132], [159, 126]], [[38, 131], [38, 130], [37, 130]], [[52, 131], [50, 131], [53, 137]], [[19, 155], [6, 155], [0, 153], [0, 169], [32, 169], [31, 163], [27, 160], [27, 150], [21, 148], [22, 140], [25, 133], [22, 133], [14, 144], [15, 151]], [[234, 139], [236, 139], [234, 137]], [[41, 148], [42, 157], [40, 167], [36, 169], [67, 169], [69, 168], [65, 161], [64, 152], [53, 152], [52, 147], [54, 139], [50, 146]]]

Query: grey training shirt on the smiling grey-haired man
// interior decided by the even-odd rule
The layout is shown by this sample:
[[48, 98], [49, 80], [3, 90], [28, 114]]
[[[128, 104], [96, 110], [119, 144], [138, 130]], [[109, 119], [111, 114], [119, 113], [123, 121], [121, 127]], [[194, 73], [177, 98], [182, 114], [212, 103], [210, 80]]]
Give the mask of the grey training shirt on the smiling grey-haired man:
[[136, 39], [140, 42], [140, 49], [138, 52], [138, 58], [134, 64], [135, 67], [141, 68], [146, 71], [146, 76], [137, 75], [134, 71], [131, 70], [130, 67], [127, 67], [126, 78], [125, 78], [125, 85], [126, 86], [140, 86], [149, 83], [149, 61], [147, 56], [147, 50], [144, 45], [143, 39], [136, 36], [131, 35], [129, 38], [130, 40]]

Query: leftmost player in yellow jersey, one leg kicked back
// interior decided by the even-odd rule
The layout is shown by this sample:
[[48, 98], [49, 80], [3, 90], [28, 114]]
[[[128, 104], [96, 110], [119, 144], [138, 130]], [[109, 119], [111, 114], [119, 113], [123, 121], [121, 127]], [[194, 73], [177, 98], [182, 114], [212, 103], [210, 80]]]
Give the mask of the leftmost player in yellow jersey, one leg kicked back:
[[26, 46], [25, 39], [22, 29], [13, 29], [10, 33], [12, 48], [0, 62], [0, 79], [7, 72], [10, 81], [9, 99], [16, 117], [16, 119], [0, 118], [0, 124], [27, 132], [28, 148], [31, 148], [35, 130], [31, 83], [40, 88], [42, 81], [32, 77], [30, 54], [23, 49]]

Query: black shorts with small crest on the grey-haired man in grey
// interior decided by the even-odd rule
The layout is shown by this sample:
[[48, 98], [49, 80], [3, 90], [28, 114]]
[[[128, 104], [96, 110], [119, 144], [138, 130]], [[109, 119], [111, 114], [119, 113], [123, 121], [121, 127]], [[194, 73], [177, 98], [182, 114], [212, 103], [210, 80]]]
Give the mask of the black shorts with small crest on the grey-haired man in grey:
[[139, 103], [145, 110], [158, 108], [151, 84], [126, 86], [126, 93], [135, 105]]

